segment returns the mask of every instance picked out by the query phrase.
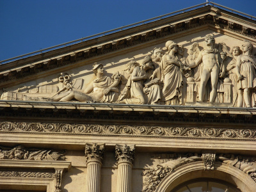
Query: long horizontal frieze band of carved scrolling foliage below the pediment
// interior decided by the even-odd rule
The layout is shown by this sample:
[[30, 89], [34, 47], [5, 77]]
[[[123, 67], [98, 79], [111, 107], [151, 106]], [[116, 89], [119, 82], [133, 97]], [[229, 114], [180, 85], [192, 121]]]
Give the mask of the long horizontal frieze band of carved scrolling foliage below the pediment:
[[167, 136], [170, 138], [229, 138], [232, 140], [256, 139], [254, 129], [221, 129], [198, 127], [131, 126], [100, 124], [55, 124], [28, 122], [1, 122], [0, 132], [49, 132], [66, 134], [111, 134], [134, 136]]

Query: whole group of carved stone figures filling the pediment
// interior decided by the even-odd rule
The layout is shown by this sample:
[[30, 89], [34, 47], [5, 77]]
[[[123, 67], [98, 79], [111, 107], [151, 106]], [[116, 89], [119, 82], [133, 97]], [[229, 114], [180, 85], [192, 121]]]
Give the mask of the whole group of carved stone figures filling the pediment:
[[184, 47], [172, 40], [166, 42], [166, 54], [155, 48], [152, 56], [141, 63], [127, 63], [122, 72], [104, 76], [102, 64], [93, 65], [95, 80], [84, 90], [76, 90], [68, 78], [61, 79], [64, 88], [49, 100], [80, 102], [115, 102], [124, 104], [183, 105], [186, 102], [187, 82], [194, 82], [196, 102], [223, 102], [223, 83], [231, 83], [231, 102], [237, 107], [255, 106], [256, 61], [253, 45], [244, 41], [240, 47], [220, 43], [215, 49], [212, 35], [205, 36], [206, 47], [191, 45], [189, 58]]

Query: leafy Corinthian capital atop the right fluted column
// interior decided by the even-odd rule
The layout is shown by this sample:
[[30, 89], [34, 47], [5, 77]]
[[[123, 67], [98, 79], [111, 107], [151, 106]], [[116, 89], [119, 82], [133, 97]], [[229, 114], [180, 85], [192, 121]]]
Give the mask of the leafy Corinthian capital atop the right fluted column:
[[117, 163], [129, 162], [133, 163], [134, 160], [134, 145], [116, 145], [116, 161]]

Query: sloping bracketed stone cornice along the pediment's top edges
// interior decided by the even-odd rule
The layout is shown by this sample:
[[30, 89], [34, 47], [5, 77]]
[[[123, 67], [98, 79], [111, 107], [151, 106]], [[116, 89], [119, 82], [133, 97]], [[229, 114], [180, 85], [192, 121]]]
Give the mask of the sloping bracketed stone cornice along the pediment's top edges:
[[[187, 19], [189, 17], [191, 19]], [[51, 73], [54, 74], [58, 72], [57, 70], [63, 70], [63, 67], [68, 68], [70, 64], [76, 64], [76, 67], [77, 63], [83, 65], [81, 63], [83, 60], [86, 60], [88, 63], [100, 60], [100, 57], [106, 57], [106, 54], [109, 54], [107, 57], [111, 57], [111, 52], [127, 47], [134, 47], [135, 45], [156, 39], [165, 40], [171, 36], [173, 37], [175, 34], [179, 34], [179, 37], [184, 36], [187, 34], [183, 33], [182, 35], [184, 31], [191, 31], [193, 29], [196, 32], [197, 28], [205, 28], [205, 26], [216, 29], [216, 31], [229, 31], [230, 34], [234, 33], [237, 36], [243, 36], [243, 38], [248, 38], [253, 44], [256, 44], [256, 24], [254, 20], [207, 6], [145, 24], [144, 26], [135, 27], [134, 29], [127, 29], [127, 31], [97, 38], [97, 41], [88, 40], [88, 42], [82, 42], [81, 45], [72, 45], [70, 49], [64, 47], [58, 49], [57, 52], [50, 51], [39, 57], [31, 56], [28, 59], [7, 63], [7, 65], [0, 66], [0, 88], [10, 86], [11, 84], [24, 83], [28, 79], [31, 80], [38, 77], [39, 74], [42, 77], [48, 76]], [[137, 28], [140, 29], [136, 30]], [[129, 35], [129, 38], [127, 38], [127, 35]], [[98, 44], [95, 44], [95, 42], [98, 42]], [[45, 71], [48, 72], [42, 74]]]

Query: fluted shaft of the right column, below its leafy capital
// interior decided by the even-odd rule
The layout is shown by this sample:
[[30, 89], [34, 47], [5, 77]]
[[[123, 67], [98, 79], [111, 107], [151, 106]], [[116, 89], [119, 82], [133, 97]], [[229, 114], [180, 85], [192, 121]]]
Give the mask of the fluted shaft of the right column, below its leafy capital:
[[129, 162], [118, 163], [117, 192], [131, 192], [132, 164]]

